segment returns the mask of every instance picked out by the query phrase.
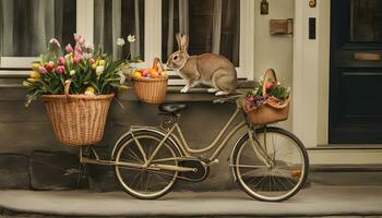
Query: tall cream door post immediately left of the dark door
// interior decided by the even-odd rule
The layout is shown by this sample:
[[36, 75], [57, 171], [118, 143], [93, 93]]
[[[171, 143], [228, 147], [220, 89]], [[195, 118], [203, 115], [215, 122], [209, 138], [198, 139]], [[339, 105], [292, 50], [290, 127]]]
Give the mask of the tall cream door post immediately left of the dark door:
[[318, 143], [319, 40], [309, 39], [309, 17], [318, 17], [318, 9], [295, 1], [295, 38], [293, 73], [293, 131], [307, 147]]

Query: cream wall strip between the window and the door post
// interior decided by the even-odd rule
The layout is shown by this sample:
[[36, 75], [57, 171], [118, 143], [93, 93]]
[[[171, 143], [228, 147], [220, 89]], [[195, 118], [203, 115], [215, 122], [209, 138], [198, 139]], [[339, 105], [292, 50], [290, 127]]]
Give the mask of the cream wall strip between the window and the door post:
[[[283, 84], [293, 86], [294, 37], [271, 36], [270, 20], [294, 19], [295, 0], [268, 0], [270, 14], [267, 15], [260, 14], [260, 2], [261, 0], [255, 0], [254, 11], [255, 78], [262, 76], [266, 69], [273, 68]], [[291, 130], [291, 120], [290, 117], [279, 125]]]

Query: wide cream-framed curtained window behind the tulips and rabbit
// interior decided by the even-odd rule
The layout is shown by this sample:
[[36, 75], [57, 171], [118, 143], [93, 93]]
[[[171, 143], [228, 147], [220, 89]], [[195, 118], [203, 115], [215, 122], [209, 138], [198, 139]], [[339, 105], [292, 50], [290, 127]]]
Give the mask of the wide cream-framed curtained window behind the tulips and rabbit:
[[[235, 63], [239, 77], [253, 76], [253, 0], [0, 0], [0, 69], [26, 69], [46, 40], [55, 36], [67, 44], [73, 33], [91, 44], [103, 41], [114, 55], [117, 38], [134, 34], [133, 52], [148, 66], [155, 57], [166, 60], [177, 49], [179, 31], [190, 35], [191, 55], [220, 53]], [[14, 39], [17, 45], [10, 46]]]

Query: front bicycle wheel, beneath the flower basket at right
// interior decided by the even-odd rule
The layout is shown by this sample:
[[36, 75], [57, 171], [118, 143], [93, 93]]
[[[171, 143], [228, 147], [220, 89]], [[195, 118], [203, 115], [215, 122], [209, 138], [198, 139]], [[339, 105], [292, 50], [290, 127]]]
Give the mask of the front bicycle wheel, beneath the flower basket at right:
[[[256, 130], [258, 142], [243, 135], [234, 148], [234, 172], [239, 186], [251, 197], [280, 202], [294, 196], [305, 184], [309, 159], [303, 144], [278, 128]], [[261, 157], [261, 148], [266, 153]], [[255, 150], [256, 149], [256, 150]], [[263, 161], [268, 158], [271, 165]]]

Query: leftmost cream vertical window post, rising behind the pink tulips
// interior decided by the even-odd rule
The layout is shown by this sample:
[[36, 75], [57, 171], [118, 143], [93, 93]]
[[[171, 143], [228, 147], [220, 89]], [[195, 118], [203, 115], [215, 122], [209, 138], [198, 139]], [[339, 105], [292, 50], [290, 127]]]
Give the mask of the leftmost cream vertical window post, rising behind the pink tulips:
[[76, 33], [82, 35], [88, 44], [93, 44], [94, 0], [76, 1]]

